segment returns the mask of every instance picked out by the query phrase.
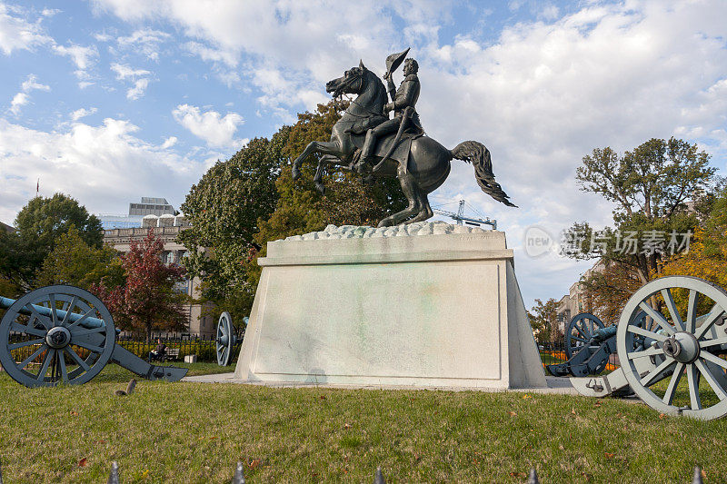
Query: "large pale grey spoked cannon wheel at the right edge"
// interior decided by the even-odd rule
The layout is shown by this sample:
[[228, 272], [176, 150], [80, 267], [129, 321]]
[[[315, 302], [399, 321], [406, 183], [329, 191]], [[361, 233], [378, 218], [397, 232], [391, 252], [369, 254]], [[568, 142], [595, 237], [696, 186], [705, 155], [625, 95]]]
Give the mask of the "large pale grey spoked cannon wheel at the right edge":
[[[674, 302], [677, 291], [686, 296], [682, 311]], [[653, 307], [657, 301], [663, 311]], [[699, 301], [712, 309], [705, 311], [702, 304], [700, 311]], [[662, 277], [633, 294], [619, 320], [616, 346], [626, 380], [644, 403], [701, 420], [727, 415], [727, 361], [720, 358], [727, 349], [725, 309], [727, 292], [696, 277]], [[635, 318], [638, 311], [649, 316], [645, 327]], [[633, 351], [637, 337], [643, 338], [643, 347]], [[646, 357], [654, 368], [640, 374], [636, 361]], [[686, 384], [680, 387], [682, 380]]]

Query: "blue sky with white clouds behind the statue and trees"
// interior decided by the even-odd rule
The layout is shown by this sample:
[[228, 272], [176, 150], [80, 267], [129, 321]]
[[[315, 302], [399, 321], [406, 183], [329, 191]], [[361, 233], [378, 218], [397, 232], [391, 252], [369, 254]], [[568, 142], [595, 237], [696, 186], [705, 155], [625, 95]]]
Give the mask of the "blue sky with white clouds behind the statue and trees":
[[458, 161], [433, 206], [496, 219], [526, 305], [560, 299], [592, 262], [524, 240], [611, 222], [575, 183], [583, 156], [676, 136], [727, 174], [725, 18], [723, 0], [0, 0], [0, 222], [36, 183], [97, 214], [178, 208], [211, 164], [329, 100], [327, 81], [411, 47], [426, 132], [484, 143], [519, 208]]

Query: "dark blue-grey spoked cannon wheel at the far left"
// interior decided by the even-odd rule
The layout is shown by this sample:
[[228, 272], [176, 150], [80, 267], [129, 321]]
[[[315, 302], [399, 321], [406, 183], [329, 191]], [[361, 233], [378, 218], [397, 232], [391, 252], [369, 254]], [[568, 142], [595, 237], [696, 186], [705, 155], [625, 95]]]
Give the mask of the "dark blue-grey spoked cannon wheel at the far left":
[[[33, 305], [49, 308], [52, 314], [41, 315]], [[65, 318], [58, 314], [61, 311]], [[70, 321], [71, 313], [103, 320], [105, 326], [85, 328], [83, 321]], [[26, 387], [52, 387], [61, 381], [81, 384], [104, 369], [115, 338], [111, 313], [95, 295], [74, 286], [46, 286], [28, 292], [5, 312], [0, 321], [0, 364]], [[20, 354], [27, 347], [33, 351], [15, 361], [14, 351]]]

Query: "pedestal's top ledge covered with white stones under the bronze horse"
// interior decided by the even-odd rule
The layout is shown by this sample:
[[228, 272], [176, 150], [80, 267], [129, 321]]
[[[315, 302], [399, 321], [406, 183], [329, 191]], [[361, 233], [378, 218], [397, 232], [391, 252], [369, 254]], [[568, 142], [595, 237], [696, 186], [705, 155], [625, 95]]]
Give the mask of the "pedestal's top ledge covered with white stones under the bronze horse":
[[381, 262], [509, 259], [504, 232], [483, 231], [446, 222], [418, 222], [394, 227], [329, 225], [268, 242], [261, 266]]

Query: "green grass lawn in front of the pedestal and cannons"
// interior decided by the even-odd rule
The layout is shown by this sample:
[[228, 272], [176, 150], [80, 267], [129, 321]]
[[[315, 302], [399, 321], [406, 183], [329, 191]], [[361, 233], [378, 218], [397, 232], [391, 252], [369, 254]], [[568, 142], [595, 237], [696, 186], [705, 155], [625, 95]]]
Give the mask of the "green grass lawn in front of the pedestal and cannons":
[[[189, 365], [191, 373], [220, 369]], [[140, 380], [108, 365], [83, 386], [29, 390], [0, 373], [6, 483], [727, 482], [727, 420], [564, 395], [271, 389]]]

